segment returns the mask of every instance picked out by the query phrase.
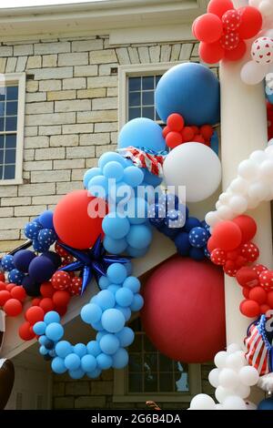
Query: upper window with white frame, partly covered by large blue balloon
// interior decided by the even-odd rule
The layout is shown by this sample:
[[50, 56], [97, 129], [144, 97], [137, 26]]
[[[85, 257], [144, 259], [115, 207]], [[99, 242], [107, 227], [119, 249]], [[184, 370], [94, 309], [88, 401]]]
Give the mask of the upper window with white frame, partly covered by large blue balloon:
[[172, 63], [119, 66], [119, 128], [128, 120], [148, 117], [160, 122], [155, 107], [158, 80]]

